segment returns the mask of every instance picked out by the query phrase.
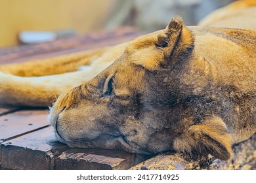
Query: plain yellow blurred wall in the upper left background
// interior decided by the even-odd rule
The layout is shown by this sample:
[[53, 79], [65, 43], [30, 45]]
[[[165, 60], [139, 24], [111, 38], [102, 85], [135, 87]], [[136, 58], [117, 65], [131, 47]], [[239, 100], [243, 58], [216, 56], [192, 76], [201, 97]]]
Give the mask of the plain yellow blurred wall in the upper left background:
[[0, 0], [0, 46], [18, 43], [22, 30], [100, 28], [118, 0]]

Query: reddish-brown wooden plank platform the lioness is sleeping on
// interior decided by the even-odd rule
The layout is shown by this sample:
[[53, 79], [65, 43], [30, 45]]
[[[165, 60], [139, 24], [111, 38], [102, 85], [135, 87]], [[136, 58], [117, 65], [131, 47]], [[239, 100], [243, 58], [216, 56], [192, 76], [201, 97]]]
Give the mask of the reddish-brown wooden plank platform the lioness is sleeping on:
[[[125, 27], [54, 42], [0, 48], [0, 64], [110, 46], [141, 35]], [[0, 169], [256, 169], [256, 135], [234, 146], [234, 158], [192, 160], [166, 152], [154, 157], [117, 150], [69, 148], [47, 122], [47, 108], [0, 107]]]

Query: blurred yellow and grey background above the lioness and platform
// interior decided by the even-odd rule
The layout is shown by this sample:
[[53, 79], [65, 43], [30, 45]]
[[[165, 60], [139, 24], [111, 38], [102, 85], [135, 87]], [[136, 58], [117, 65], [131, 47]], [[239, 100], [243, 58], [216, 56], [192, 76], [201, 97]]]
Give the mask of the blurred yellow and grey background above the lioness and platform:
[[[133, 26], [145, 33], [162, 29], [172, 16], [196, 25], [205, 15], [234, 0], [0, 0], [0, 47]], [[32, 32], [31, 32], [32, 31]], [[43, 32], [42, 32], [43, 31]], [[47, 31], [47, 32], [45, 32]]]

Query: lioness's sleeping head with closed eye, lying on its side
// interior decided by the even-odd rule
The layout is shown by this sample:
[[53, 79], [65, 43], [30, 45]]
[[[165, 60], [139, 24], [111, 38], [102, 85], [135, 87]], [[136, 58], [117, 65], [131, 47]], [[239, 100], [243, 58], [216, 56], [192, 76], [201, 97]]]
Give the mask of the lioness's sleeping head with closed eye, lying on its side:
[[[173, 148], [190, 151], [202, 143], [211, 154], [228, 154], [230, 144], [209, 134], [203, 138], [210, 136], [211, 143], [197, 144], [197, 134], [205, 133], [190, 128], [200, 120], [192, 117], [189, 105], [189, 96], [197, 89], [192, 91], [184, 82], [190, 61], [202, 64], [193, 49], [193, 35], [179, 17], [165, 29], [135, 39], [98, 76], [60, 95], [50, 114], [58, 139], [71, 147], [144, 154]], [[196, 84], [205, 84], [200, 82]], [[225, 125], [220, 126], [225, 131]], [[186, 137], [187, 131], [192, 131], [191, 137]], [[191, 144], [182, 141], [183, 136]]]

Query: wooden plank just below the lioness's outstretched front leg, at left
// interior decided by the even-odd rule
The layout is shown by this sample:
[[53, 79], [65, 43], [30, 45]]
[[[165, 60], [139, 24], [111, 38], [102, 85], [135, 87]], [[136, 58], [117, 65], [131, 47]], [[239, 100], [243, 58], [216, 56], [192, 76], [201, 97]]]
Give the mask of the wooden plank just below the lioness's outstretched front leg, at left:
[[24, 133], [49, 125], [48, 110], [19, 110], [0, 116], [0, 144]]

